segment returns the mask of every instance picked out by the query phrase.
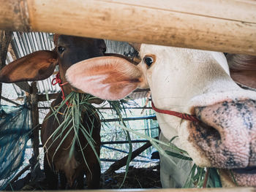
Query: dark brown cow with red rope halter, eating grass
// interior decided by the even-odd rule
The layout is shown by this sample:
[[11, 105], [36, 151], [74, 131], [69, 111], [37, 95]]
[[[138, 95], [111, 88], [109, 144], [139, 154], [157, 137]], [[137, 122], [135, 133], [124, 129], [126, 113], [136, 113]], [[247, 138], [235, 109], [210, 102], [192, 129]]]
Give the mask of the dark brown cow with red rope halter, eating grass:
[[[59, 64], [59, 74], [62, 83], [67, 82], [65, 78], [66, 70], [72, 64], [83, 61], [88, 58], [102, 56], [105, 53], [106, 45], [102, 39], [90, 39], [82, 37], [70, 37], [61, 35], [55, 38], [56, 48], [53, 51], [42, 50], [19, 58], [11, 64], [4, 67], [0, 72], [0, 82], [18, 82], [27, 80], [44, 80], [53, 74], [56, 64]], [[67, 96], [72, 91], [72, 87], [67, 83], [63, 85], [64, 95]], [[52, 102], [51, 106], [55, 107], [61, 104], [61, 93], [58, 98]], [[61, 143], [67, 131], [61, 134], [59, 139], [53, 142], [50, 138], [56, 128], [59, 127], [58, 121], [61, 123], [64, 116], [61, 115], [67, 105], [61, 107], [56, 120], [50, 111], [42, 123], [41, 139], [45, 146], [45, 177], [50, 189], [57, 189], [58, 174], [66, 176], [69, 187], [83, 188], [83, 175], [86, 174], [88, 188], [99, 188], [100, 166], [97, 156], [89, 147], [86, 138], [80, 132], [78, 133], [80, 143], [83, 147], [83, 154], [86, 154], [86, 163], [83, 154], [78, 146], [75, 153], [69, 157], [69, 149], [74, 136], [74, 131], [69, 132], [68, 137]], [[100, 148], [100, 121], [97, 113], [83, 112], [83, 126], [89, 131], [93, 126], [92, 137], [96, 142], [95, 148], [99, 155]], [[49, 118], [48, 118], [49, 117]], [[91, 125], [91, 124], [94, 125]], [[68, 129], [68, 128], [67, 128]], [[59, 131], [60, 133], [61, 131]], [[50, 139], [49, 139], [50, 138]], [[61, 144], [60, 147], [59, 144]], [[86, 145], [88, 145], [86, 147]], [[88, 166], [86, 165], [88, 164]], [[75, 180], [77, 181], [75, 183]], [[75, 186], [75, 184], [77, 184]], [[65, 188], [66, 183], [62, 180], [61, 188]]]

